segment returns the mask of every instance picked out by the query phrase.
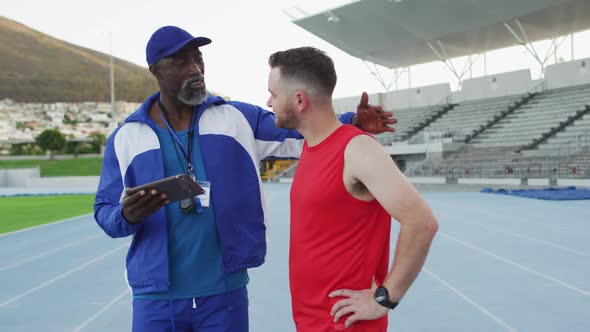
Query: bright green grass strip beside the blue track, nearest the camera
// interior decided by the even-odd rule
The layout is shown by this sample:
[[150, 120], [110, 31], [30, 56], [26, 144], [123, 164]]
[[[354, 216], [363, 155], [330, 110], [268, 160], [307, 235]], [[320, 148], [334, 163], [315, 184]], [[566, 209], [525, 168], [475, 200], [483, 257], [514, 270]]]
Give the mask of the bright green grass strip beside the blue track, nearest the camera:
[[0, 197], [0, 234], [92, 212], [94, 195]]

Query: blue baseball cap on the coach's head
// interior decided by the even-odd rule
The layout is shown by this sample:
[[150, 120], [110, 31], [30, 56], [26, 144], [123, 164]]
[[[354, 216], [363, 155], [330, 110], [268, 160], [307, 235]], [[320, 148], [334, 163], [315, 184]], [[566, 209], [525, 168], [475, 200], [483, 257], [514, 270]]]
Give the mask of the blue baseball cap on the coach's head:
[[153, 65], [160, 59], [180, 51], [188, 43], [200, 47], [211, 43], [207, 37], [193, 37], [190, 33], [175, 26], [161, 27], [148, 41], [145, 48], [145, 58], [148, 65]]

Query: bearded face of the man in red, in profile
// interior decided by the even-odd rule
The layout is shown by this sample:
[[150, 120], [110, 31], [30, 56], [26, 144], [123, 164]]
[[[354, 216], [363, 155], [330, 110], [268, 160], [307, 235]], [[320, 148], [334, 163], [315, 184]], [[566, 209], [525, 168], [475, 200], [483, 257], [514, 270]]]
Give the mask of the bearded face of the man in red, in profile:
[[293, 104], [294, 93], [288, 84], [281, 80], [280, 68], [272, 68], [268, 75], [268, 91], [270, 97], [266, 106], [275, 112], [275, 124], [279, 128], [297, 129], [299, 119]]

